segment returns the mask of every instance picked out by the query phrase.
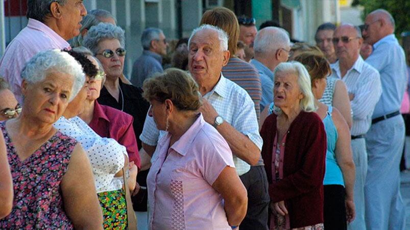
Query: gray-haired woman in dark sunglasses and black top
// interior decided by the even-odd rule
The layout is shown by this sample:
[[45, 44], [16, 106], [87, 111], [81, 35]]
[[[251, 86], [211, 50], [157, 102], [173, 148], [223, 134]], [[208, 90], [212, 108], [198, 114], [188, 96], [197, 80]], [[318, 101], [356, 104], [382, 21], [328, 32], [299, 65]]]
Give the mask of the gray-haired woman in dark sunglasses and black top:
[[[138, 137], [142, 132], [149, 104], [143, 100], [141, 89], [126, 84], [121, 79], [124, 76], [126, 54], [124, 30], [109, 23], [100, 23], [90, 28], [84, 37], [83, 45], [101, 62], [106, 74], [98, 102], [130, 114], [134, 118], [135, 136]], [[137, 145], [140, 149], [139, 138]]]

